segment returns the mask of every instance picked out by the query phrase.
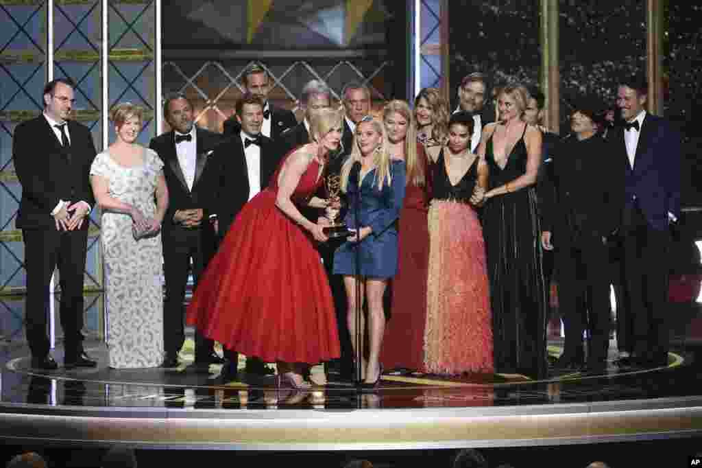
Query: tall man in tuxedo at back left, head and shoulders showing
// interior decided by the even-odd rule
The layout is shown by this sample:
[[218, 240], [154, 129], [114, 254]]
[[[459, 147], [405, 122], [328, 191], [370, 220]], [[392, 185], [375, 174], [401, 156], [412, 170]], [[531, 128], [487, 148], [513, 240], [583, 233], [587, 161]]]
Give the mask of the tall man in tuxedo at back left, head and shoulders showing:
[[[298, 124], [298, 120], [291, 110], [277, 108], [268, 102], [268, 93], [272, 86], [265, 68], [258, 63], [252, 63], [244, 70], [241, 80], [246, 93], [258, 96], [263, 100], [263, 124], [260, 131], [263, 136], [277, 141], [284, 131]], [[241, 130], [241, 123], [236, 114], [225, 120], [225, 136], [237, 134], [239, 130]]]

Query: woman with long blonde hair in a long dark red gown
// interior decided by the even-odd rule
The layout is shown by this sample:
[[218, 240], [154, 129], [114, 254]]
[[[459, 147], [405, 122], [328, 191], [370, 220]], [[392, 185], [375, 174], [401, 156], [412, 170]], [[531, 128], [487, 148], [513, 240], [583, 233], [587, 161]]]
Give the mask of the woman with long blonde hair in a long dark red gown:
[[393, 159], [406, 164], [406, 191], [399, 214], [397, 275], [392, 280], [390, 323], [385, 327], [380, 362], [383, 368], [424, 370], [424, 327], [427, 318], [429, 261], [428, 167], [424, 148], [417, 142], [409, 105], [392, 100], [383, 110]]

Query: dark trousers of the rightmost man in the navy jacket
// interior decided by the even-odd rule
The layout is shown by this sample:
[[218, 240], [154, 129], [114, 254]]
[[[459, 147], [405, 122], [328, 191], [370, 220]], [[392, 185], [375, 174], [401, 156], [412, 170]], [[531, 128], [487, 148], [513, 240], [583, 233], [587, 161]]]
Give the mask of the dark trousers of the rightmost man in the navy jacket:
[[625, 214], [625, 221], [624, 275], [633, 322], [632, 349], [640, 360], [665, 363], [669, 339], [665, 312], [670, 232], [651, 228], [636, 206]]

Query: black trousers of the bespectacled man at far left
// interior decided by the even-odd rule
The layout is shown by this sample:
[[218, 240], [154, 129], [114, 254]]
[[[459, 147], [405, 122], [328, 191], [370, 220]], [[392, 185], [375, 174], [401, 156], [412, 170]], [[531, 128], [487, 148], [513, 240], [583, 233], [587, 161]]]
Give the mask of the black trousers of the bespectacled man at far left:
[[88, 231], [24, 229], [27, 268], [27, 311], [25, 327], [32, 356], [43, 358], [49, 352], [46, 333], [51, 275], [58, 266], [61, 287], [60, 320], [67, 358], [83, 351], [83, 278], [86, 268]]

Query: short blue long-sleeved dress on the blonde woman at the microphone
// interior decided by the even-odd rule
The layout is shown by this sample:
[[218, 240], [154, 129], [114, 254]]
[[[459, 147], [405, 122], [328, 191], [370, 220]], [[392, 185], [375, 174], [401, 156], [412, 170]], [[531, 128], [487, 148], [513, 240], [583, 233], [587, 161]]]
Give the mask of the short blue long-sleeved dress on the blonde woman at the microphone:
[[[349, 228], [370, 226], [373, 232], [362, 242], [344, 242], [334, 254], [333, 273], [355, 275], [356, 259], [360, 259], [360, 274], [371, 278], [392, 278], [397, 273], [397, 227], [405, 191], [404, 161], [392, 161], [392, 183], [378, 190], [376, 169], [364, 177], [359, 190], [361, 164], [355, 164], [347, 186]], [[358, 212], [358, 214], [357, 214]], [[358, 219], [356, 217], [358, 216]]]

